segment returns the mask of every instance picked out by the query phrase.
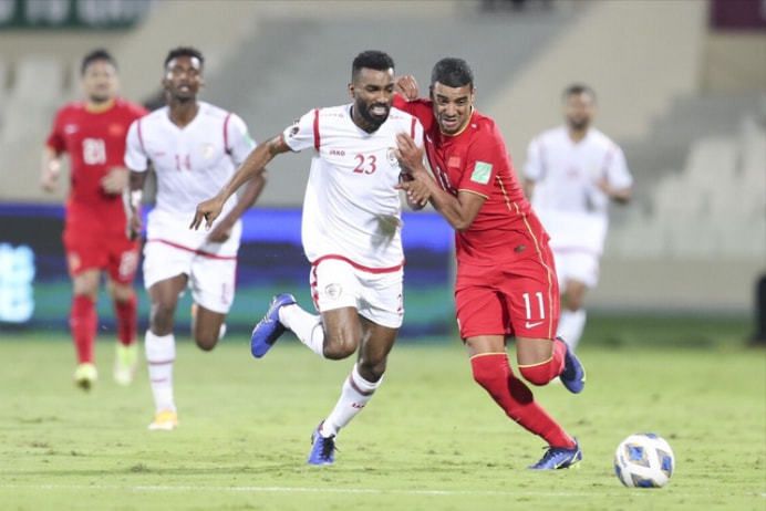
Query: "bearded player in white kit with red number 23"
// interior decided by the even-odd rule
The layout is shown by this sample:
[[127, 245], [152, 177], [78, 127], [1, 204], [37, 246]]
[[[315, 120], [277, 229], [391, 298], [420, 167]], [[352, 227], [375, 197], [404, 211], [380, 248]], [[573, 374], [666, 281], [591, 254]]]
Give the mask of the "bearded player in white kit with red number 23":
[[[401, 201], [396, 135], [423, 144], [415, 117], [392, 107], [394, 63], [379, 51], [353, 61], [351, 104], [312, 109], [258, 146], [216, 197], [200, 204], [192, 223], [207, 226], [221, 205], [276, 155], [313, 149], [303, 201], [302, 242], [311, 262], [311, 295], [319, 315], [291, 294], [275, 296], [252, 332], [261, 357], [286, 328], [318, 355], [341, 359], [359, 348], [340, 399], [312, 435], [310, 465], [334, 462], [335, 436], [381, 385], [389, 352], [404, 314]], [[411, 205], [412, 206], [412, 205]]]

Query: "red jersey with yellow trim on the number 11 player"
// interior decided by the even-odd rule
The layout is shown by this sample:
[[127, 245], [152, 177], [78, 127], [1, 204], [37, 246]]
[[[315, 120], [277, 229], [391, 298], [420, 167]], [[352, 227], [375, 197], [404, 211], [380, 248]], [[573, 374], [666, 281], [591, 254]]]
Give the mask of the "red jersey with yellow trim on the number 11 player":
[[458, 262], [493, 265], [518, 260], [519, 243], [544, 231], [524, 196], [495, 122], [474, 111], [466, 128], [448, 136], [439, 131], [431, 101], [406, 102], [397, 95], [394, 106], [423, 124], [428, 163], [444, 190], [454, 196], [465, 190], [486, 197], [470, 227], [455, 232]]

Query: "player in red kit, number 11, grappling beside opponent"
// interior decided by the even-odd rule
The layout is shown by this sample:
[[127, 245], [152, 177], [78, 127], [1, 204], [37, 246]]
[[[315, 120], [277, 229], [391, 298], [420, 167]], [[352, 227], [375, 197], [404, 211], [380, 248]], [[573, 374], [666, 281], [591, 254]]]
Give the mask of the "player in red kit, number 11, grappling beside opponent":
[[411, 169], [400, 187], [411, 200], [429, 200], [455, 229], [457, 323], [474, 379], [504, 411], [549, 448], [531, 469], [568, 468], [582, 459], [580, 447], [538, 405], [517, 378], [505, 343], [516, 338], [519, 372], [534, 385], [559, 376], [572, 393], [583, 388], [584, 372], [573, 353], [555, 338], [559, 291], [548, 234], [519, 186], [495, 122], [474, 109], [474, 76], [454, 58], [436, 63], [431, 97], [415, 100], [417, 84], [397, 80], [394, 105], [415, 115], [425, 129], [425, 152], [406, 134], [397, 137], [398, 157]]

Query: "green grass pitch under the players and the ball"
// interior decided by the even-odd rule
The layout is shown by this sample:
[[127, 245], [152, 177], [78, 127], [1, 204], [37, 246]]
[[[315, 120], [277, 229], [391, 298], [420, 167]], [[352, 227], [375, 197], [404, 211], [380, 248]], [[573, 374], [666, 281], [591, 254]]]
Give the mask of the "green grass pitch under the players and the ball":
[[[339, 437], [335, 466], [306, 465], [312, 428], [352, 361], [286, 338], [260, 361], [244, 335], [213, 353], [178, 344], [180, 427], [147, 431], [145, 368], [71, 384], [62, 333], [0, 332], [2, 510], [764, 510], [766, 352], [742, 321], [592, 319], [583, 394], [535, 388], [577, 435], [578, 469], [535, 473], [542, 441], [509, 421], [470, 378], [455, 340], [396, 346], [375, 398]], [[629, 434], [671, 444], [666, 488], [623, 488], [612, 456]]]

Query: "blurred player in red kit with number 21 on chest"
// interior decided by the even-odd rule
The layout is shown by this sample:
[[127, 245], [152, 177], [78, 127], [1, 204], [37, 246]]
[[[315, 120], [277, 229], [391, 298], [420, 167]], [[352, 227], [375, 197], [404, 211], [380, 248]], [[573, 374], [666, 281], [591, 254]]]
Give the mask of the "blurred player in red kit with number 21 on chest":
[[56, 113], [43, 153], [41, 186], [46, 191], [55, 190], [61, 158], [68, 153], [71, 185], [63, 242], [73, 285], [70, 327], [77, 353], [74, 382], [89, 389], [97, 378], [93, 344], [102, 272], [107, 273], [117, 319], [115, 380], [130, 384], [136, 367], [133, 278], [138, 243], [127, 237], [122, 192], [128, 173], [123, 157], [127, 128], [146, 111], [117, 96], [117, 66], [106, 51], [85, 55], [81, 73], [85, 100], [70, 103]]

